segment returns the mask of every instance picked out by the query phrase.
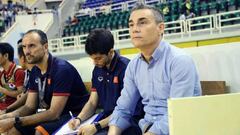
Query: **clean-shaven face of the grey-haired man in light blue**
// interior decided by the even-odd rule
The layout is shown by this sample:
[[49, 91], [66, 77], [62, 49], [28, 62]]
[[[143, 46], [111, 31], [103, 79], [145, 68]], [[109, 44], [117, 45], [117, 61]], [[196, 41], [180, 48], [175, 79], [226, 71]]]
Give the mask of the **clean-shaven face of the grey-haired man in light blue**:
[[155, 46], [161, 40], [164, 24], [157, 23], [151, 9], [139, 9], [131, 13], [129, 32], [132, 43], [139, 49]]

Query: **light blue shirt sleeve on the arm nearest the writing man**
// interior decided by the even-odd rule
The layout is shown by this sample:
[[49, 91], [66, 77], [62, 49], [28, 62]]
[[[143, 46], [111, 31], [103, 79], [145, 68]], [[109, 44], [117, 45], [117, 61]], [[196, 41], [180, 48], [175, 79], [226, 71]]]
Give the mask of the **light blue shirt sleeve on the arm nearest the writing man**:
[[125, 130], [130, 126], [130, 118], [132, 117], [137, 101], [140, 98], [140, 94], [137, 90], [135, 82], [133, 80], [134, 74], [130, 67], [127, 67], [124, 88], [121, 92], [121, 96], [117, 100], [117, 106], [115, 107], [109, 125], [115, 125], [122, 130]]

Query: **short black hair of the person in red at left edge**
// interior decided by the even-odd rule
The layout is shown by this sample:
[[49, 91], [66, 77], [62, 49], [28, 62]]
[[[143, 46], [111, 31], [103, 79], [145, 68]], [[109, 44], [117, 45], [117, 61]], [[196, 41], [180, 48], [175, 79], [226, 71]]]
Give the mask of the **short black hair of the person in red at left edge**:
[[9, 43], [6, 42], [0, 43], [0, 53], [2, 55], [8, 54], [8, 60], [13, 61], [14, 49]]

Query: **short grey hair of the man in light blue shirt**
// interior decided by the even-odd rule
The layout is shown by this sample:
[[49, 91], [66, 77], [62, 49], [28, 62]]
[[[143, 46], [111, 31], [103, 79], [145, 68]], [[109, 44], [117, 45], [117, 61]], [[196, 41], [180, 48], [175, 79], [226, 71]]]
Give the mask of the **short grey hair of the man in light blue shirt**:
[[136, 5], [132, 8], [131, 13], [133, 11], [141, 10], [141, 9], [150, 9], [153, 12], [156, 23], [164, 22], [163, 13], [158, 8], [150, 5], [146, 5], [142, 2], [137, 2]]

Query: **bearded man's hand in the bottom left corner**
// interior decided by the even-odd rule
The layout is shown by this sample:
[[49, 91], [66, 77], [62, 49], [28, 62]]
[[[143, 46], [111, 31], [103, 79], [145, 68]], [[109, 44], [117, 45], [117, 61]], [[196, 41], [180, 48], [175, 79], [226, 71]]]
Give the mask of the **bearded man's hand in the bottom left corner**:
[[0, 133], [4, 133], [11, 129], [14, 124], [14, 118], [0, 120]]

